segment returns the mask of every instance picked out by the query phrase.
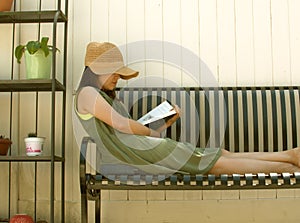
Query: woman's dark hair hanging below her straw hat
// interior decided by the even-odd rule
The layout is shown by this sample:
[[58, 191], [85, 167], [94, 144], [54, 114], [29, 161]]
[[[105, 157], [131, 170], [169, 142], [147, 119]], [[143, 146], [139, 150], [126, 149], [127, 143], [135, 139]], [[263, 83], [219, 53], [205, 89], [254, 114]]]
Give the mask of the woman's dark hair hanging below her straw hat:
[[99, 83], [99, 75], [95, 74], [88, 66], [85, 67], [79, 86], [77, 88], [77, 92], [83, 88], [83, 87], [94, 87], [97, 88], [99, 90], [104, 91], [109, 97], [111, 98], [115, 98], [116, 97], [116, 92], [115, 90], [105, 90], [105, 89], [100, 89], [100, 83]]

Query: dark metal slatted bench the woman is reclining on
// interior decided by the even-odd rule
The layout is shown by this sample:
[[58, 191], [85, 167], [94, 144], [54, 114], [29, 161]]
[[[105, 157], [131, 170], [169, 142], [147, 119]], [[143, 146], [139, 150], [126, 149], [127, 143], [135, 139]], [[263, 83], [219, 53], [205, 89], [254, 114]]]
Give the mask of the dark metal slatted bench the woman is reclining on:
[[[198, 147], [222, 147], [232, 152], [273, 152], [300, 143], [299, 87], [124, 88], [118, 96], [137, 119], [162, 100], [178, 104], [183, 116], [166, 137]], [[199, 125], [195, 123], [200, 123]], [[80, 152], [82, 222], [87, 201], [94, 200], [101, 219], [101, 190], [251, 190], [300, 188], [300, 173], [233, 175], [150, 175], [139, 172], [101, 174], [87, 171], [93, 139], [84, 137]], [[97, 156], [93, 161], [100, 165]], [[96, 168], [97, 169], [97, 168]]]

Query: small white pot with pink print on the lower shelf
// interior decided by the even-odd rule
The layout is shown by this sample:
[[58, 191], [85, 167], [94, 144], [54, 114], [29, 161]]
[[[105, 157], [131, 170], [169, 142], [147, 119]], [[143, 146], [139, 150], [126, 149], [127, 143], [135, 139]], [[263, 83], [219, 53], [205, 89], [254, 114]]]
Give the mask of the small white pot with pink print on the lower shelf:
[[27, 156], [39, 156], [42, 154], [45, 137], [38, 137], [36, 133], [29, 133], [24, 141]]

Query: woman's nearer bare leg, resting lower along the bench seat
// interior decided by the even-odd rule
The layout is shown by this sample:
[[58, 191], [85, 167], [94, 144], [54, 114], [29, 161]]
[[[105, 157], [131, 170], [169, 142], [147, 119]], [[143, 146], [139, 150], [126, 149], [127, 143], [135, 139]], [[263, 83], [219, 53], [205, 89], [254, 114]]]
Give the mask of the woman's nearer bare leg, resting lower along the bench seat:
[[294, 173], [300, 172], [300, 167], [289, 162], [274, 162], [260, 159], [232, 158], [221, 156], [210, 174], [246, 174], [246, 173]]

